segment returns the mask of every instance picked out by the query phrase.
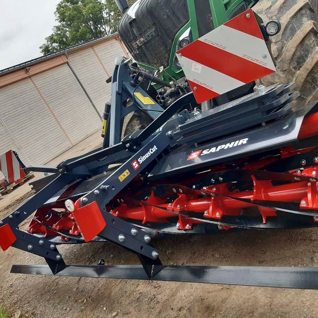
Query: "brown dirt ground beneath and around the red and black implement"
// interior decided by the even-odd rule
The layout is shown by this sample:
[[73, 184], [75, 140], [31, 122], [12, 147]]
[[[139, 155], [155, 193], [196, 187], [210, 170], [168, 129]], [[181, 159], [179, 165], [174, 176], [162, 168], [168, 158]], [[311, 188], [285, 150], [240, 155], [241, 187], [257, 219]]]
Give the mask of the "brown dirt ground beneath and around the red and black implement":
[[[95, 137], [55, 162], [96, 148]], [[19, 189], [19, 195], [14, 194], [16, 190], [1, 200], [0, 219], [28, 197], [29, 190], [25, 184]], [[153, 243], [165, 264], [318, 266], [316, 229], [224, 232]], [[138, 263], [134, 255], [109, 243], [63, 246], [60, 251], [66, 262], [72, 264], [97, 264], [101, 258], [107, 264]], [[12, 264], [43, 263], [40, 257], [14, 248], [0, 251], [0, 306], [12, 313], [12, 317], [318, 317], [318, 292], [310, 290], [9, 273]]]

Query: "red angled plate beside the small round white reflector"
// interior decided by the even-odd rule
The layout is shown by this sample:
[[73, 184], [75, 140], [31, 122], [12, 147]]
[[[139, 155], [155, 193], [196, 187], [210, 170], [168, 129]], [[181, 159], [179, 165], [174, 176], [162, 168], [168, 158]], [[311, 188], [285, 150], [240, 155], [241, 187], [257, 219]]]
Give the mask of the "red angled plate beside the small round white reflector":
[[76, 209], [73, 216], [85, 242], [90, 242], [96, 238], [106, 226], [105, 219], [96, 201]]

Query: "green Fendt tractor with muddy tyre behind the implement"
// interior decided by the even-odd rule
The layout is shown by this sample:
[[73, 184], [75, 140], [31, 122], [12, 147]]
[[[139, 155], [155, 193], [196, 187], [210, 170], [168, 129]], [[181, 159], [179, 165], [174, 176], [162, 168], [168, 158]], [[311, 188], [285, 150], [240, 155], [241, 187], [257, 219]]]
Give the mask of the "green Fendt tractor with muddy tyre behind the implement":
[[[137, 0], [131, 7], [126, 0], [115, 1], [124, 13], [118, 32], [137, 67], [172, 84], [148, 85], [149, 94], [163, 107], [188, 89], [175, 53], [248, 8], [264, 21], [281, 23], [281, 30], [275, 25], [267, 28], [277, 72], [257, 84], [295, 81], [300, 91], [295, 106], [318, 99], [318, 0]], [[266, 26], [264, 29], [266, 34]], [[201, 108], [238, 98], [254, 86], [255, 83], [245, 85], [205, 102]], [[149, 121], [146, 114], [135, 114], [126, 133]]]

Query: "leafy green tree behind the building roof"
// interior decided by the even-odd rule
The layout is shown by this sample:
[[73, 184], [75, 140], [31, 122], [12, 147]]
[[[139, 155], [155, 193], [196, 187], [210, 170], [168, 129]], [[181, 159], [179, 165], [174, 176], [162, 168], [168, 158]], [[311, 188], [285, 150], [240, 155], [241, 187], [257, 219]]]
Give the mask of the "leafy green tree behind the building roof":
[[58, 25], [40, 46], [44, 55], [116, 32], [121, 12], [114, 0], [61, 0], [55, 16]]

